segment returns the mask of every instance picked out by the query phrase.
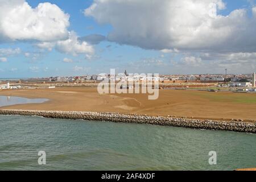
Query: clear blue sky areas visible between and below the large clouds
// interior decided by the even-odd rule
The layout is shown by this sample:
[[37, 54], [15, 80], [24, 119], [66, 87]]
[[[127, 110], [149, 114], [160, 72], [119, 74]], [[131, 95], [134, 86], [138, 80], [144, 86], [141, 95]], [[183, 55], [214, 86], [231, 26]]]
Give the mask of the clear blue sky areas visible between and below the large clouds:
[[[69, 14], [70, 25], [67, 27], [67, 30], [76, 32], [78, 38], [94, 34], [108, 37], [114, 30], [118, 30], [118, 28], [120, 28], [116, 27], [116, 25], [112, 23], [116, 18], [118, 18], [116, 16], [114, 17], [114, 20], [113, 18], [104, 19], [107, 23], [103, 24], [98, 23], [100, 16], [97, 14], [97, 11], [91, 16], [85, 16], [84, 10], [88, 9], [94, 3], [91, 0], [27, 0], [26, 2], [31, 6], [31, 9], [35, 9], [39, 3], [45, 2], [57, 5], [65, 14]], [[228, 16], [234, 10], [246, 9], [248, 11], [247, 16], [249, 19], [250, 16], [252, 16], [251, 8], [254, 7], [253, 1], [225, 0], [223, 2], [226, 4], [226, 7], [225, 9], [218, 10], [219, 15]], [[98, 5], [98, 7], [100, 6], [104, 7], [105, 5]], [[125, 6], [127, 5], [123, 5], [123, 8], [125, 8]], [[143, 14], [143, 11], [141, 11], [141, 14]], [[109, 14], [106, 14], [106, 16], [107, 15]], [[133, 28], [131, 28], [131, 30], [133, 30]], [[128, 33], [130, 35], [130, 32]], [[133, 33], [134, 32], [132, 31], [131, 34]], [[140, 36], [144, 38], [143, 35]], [[137, 38], [137, 36], [135, 36], [135, 38]], [[87, 53], [72, 55], [72, 53], [58, 51], [56, 48], [52, 48], [51, 50], [39, 48], [36, 46], [38, 40], [24, 39], [1, 42], [0, 36], [0, 60], [2, 59], [2, 61], [0, 61], [0, 77], [76, 76], [94, 73], [109, 73], [110, 68], [117, 69], [117, 72], [124, 72], [124, 70], [127, 69], [127, 71], [131, 73], [224, 73], [225, 68], [228, 68], [232, 73], [249, 73], [253, 71], [256, 61], [246, 62], [246, 67], [241, 70], [239, 64], [244, 63], [241, 61], [245, 60], [237, 59], [237, 62], [235, 63], [233, 60], [230, 60], [230, 56], [236, 53], [238, 55], [241, 55], [241, 53], [249, 53], [250, 55], [248, 56], [248, 59], [253, 59], [254, 52], [256, 52], [256, 50], [236, 48], [236, 50], [230, 49], [220, 55], [221, 49], [216, 50], [214, 47], [216, 46], [216, 43], [213, 43], [213, 48], [210, 47], [207, 52], [204, 52], [201, 47], [191, 48], [190, 45], [186, 45], [189, 48], [184, 45], [183, 47], [179, 47], [179, 45], [177, 45], [177, 47], [179, 47], [179, 51], [164, 52], [162, 48], [165, 49], [165, 45], [160, 48], [148, 48], [147, 46], [136, 44], [134, 41], [129, 42], [130, 39], [128, 42], [125, 40], [125, 43], [123, 43], [124, 40], [119, 41], [119, 39], [120, 37], [118, 34], [118, 38], [115, 36], [114, 38], [108, 38], [108, 40], [92, 45], [94, 53], [89, 55], [90, 57], [88, 58], [88, 56], [86, 56], [88, 55]], [[147, 44], [147, 36], [142, 39], [142, 42], [143, 45]], [[148, 44], [150, 43], [151, 42], [148, 42]], [[219, 46], [223, 45], [225, 44], [220, 44]], [[174, 50], [176, 45], [166, 46], [166, 50], [171, 50], [172, 48]], [[19, 51], [18, 53], [2, 53], [1, 55], [1, 49], [2, 52], [6, 52], [7, 49], [18, 49]], [[210, 54], [213, 55], [213, 57], [205, 59], [201, 56], [202, 54]], [[218, 57], [220, 60], [214, 59], [214, 57]], [[244, 56], [242, 57], [244, 58]], [[67, 61], [68, 63], [66, 63], [64, 59], [72, 61]], [[192, 63], [193, 65], [191, 65]], [[213, 68], [213, 63], [220, 64], [221, 66]], [[245, 64], [243, 65], [245, 66]]]

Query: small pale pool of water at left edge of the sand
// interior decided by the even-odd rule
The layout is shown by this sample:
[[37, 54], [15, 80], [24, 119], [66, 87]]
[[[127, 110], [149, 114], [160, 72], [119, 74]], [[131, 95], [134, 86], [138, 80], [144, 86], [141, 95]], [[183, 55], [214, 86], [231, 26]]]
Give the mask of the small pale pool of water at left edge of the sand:
[[0, 107], [16, 104], [35, 104], [48, 101], [46, 98], [24, 98], [14, 96], [0, 96]]

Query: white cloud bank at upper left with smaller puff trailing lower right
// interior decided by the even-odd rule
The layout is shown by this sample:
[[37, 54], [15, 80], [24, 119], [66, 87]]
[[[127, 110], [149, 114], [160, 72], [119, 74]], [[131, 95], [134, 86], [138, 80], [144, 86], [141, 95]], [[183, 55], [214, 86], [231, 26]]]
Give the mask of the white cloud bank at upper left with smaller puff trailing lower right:
[[46, 2], [32, 8], [24, 0], [0, 0], [0, 5], [0, 43], [35, 42], [39, 48], [74, 56], [94, 53], [92, 46], [68, 31], [69, 15], [57, 5]]

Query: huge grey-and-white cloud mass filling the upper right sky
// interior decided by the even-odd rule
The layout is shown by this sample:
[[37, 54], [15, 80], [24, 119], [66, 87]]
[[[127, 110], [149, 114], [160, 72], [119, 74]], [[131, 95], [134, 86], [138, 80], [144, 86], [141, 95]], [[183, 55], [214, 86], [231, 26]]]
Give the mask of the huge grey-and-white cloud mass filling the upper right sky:
[[[227, 5], [228, 6], [228, 5]], [[84, 11], [111, 24], [108, 40], [146, 49], [252, 52], [256, 49], [256, 7], [229, 15], [222, 0], [94, 0]]]

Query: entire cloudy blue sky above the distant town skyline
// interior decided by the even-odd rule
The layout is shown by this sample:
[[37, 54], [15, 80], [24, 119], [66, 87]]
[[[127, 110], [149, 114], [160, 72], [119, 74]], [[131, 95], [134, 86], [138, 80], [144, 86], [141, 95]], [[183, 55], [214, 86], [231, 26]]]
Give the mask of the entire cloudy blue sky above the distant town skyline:
[[253, 0], [0, 0], [0, 78], [256, 72]]

